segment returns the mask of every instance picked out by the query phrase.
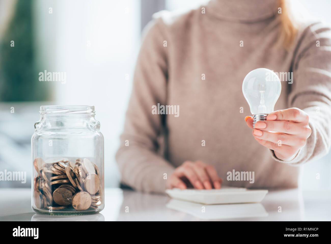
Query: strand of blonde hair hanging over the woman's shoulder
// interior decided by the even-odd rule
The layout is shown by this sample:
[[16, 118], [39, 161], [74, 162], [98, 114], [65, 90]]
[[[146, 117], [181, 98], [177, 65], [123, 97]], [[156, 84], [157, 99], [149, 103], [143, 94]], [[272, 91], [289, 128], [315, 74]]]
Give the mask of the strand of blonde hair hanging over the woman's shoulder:
[[281, 14], [278, 15], [280, 18], [280, 29], [278, 44], [281, 44], [285, 49], [290, 49], [299, 30], [299, 22], [294, 15], [293, 7], [290, 6], [289, 0], [278, 0], [278, 11]]

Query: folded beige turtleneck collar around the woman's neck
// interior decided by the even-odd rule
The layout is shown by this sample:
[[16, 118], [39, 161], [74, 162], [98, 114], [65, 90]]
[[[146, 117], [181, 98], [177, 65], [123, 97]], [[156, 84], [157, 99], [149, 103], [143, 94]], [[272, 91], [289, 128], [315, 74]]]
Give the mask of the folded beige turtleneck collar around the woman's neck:
[[206, 14], [235, 22], [257, 22], [277, 14], [279, 0], [211, 0]]

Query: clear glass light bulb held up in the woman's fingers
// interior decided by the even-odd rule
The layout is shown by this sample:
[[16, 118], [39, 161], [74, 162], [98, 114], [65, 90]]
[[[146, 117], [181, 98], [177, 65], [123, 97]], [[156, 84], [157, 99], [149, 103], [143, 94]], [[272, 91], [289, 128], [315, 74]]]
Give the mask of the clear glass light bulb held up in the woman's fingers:
[[243, 94], [253, 114], [253, 127], [274, 111], [281, 90], [279, 77], [271, 70], [259, 68], [246, 75]]

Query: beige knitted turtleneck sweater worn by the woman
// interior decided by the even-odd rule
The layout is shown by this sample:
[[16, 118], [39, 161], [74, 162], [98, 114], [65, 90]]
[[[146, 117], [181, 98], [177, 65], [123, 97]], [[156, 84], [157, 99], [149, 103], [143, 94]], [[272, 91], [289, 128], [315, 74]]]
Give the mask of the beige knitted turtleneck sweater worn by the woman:
[[[276, 0], [212, 0], [187, 13], [155, 15], [141, 45], [116, 155], [124, 184], [164, 192], [165, 173], [168, 177], [185, 160], [202, 160], [216, 168], [223, 185], [297, 187], [297, 166], [328, 152], [330, 28], [302, 24], [289, 51], [272, 48], [278, 38], [277, 9]], [[292, 84], [282, 81], [275, 110], [298, 107], [309, 114], [311, 136], [289, 162], [256, 142], [244, 120], [251, 114], [242, 82], [261, 67], [293, 72]], [[158, 103], [179, 105], [179, 116], [154, 114], [152, 106]], [[233, 169], [254, 171], [255, 182], [227, 181]]]

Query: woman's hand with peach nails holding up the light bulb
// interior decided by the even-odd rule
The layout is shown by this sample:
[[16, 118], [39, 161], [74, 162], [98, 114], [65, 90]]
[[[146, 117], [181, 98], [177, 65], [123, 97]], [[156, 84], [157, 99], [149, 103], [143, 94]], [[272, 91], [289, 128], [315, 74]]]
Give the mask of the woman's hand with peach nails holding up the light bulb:
[[253, 128], [253, 117], [246, 116], [253, 136], [264, 147], [274, 151], [284, 161], [292, 160], [306, 145], [311, 134], [309, 116], [299, 108], [277, 110], [269, 113], [266, 121], [258, 121]]

